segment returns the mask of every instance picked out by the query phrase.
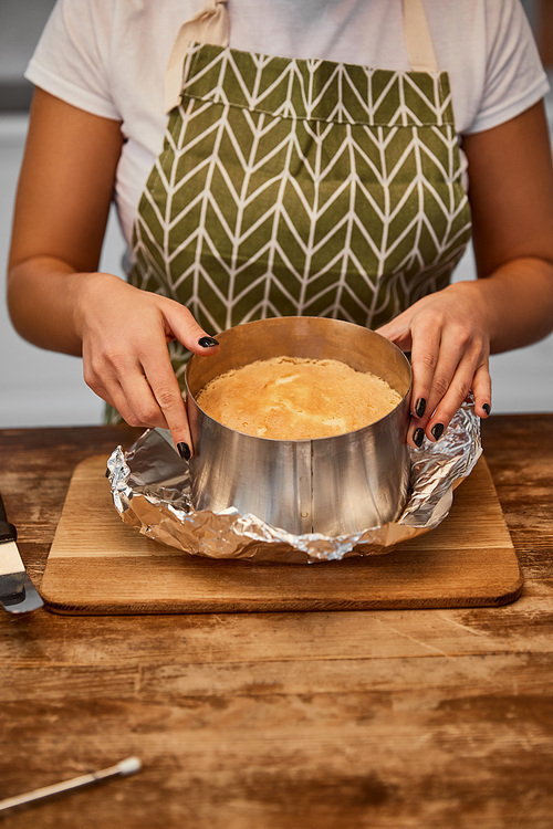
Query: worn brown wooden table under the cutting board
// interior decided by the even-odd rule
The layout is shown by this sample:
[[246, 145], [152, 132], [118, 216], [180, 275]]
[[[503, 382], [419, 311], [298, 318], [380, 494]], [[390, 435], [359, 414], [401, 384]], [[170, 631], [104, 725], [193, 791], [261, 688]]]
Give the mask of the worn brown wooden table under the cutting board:
[[[126, 427], [0, 432], [0, 491], [40, 584], [67, 483]], [[553, 414], [484, 452], [525, 576], [500, 608], [0, 615], [0, 798], [138, 755], [143, 770], [2, 826], [553, 825]]]

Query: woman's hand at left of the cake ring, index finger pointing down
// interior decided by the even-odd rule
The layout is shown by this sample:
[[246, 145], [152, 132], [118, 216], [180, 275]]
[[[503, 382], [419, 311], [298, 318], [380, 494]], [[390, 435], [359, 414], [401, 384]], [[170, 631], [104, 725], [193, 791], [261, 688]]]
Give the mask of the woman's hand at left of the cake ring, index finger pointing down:
[[91, 389], [131, 426], [169, 429], [188, 458], [190, 429], [167, 346], [178, 339], [195, 354], [215, 354], [217, 340], [184, 305], [108, 273], [83, 274], [74, 325]]

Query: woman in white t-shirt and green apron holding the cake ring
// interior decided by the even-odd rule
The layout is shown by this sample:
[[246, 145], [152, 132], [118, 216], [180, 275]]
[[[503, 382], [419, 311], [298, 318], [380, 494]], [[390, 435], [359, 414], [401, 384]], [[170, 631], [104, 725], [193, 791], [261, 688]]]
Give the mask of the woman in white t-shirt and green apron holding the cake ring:
[[[413, 445], [469, 391], [488, 417], [490, 350], [553, 327], [547, 85], [519, 0], [61, 0], [28, 76], [13, 323], [184, 457], [187, 353], [230, 325], [376, 328], [411, 353]], [[114, 192], [128, 283], [97, 273]], [[450, 285], [471, 223], [481, 279]]]

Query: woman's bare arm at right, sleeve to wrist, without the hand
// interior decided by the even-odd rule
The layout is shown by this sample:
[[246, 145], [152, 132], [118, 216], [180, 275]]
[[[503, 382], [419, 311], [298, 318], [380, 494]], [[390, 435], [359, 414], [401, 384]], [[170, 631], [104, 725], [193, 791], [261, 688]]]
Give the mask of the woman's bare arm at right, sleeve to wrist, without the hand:
[[[553, 329], [553, 166], [543, 103], [463, 137], [477, 272], [476, 313], [491, 350]], [[481, 302], [481, 305], [479, 305]]]

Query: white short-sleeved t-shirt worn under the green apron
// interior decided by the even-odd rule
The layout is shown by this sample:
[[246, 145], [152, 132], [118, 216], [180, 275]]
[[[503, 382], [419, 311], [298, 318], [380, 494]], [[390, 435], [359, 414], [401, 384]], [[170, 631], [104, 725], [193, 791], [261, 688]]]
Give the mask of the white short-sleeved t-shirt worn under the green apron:
[[[520, 0], [424, 0], [457, 130], [498, 126], [549, 90]], [[204, 0], [58, 0], [25, 76], [73, 106], [122, 122], [115, 201], [127, 243], [161, 150], [164, 75], [180, 25]], [[230, 45], [408, 70], [401, 0], [228, 0]]]

